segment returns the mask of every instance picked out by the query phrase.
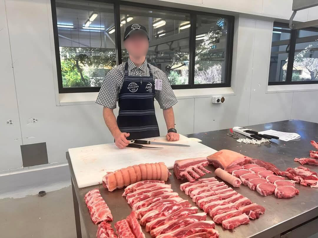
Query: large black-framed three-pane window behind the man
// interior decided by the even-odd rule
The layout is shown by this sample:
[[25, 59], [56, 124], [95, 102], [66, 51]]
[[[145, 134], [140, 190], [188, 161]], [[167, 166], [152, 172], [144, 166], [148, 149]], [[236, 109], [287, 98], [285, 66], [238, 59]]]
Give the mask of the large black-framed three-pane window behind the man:
[[133, 23], [146, 27], [147, 61], [173, 89], [231, 85], [232, 16], [107, 0], [51, 5], [59, 93], [99, 91], [107, 72], [127, 61], [122, 38]]

